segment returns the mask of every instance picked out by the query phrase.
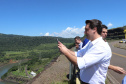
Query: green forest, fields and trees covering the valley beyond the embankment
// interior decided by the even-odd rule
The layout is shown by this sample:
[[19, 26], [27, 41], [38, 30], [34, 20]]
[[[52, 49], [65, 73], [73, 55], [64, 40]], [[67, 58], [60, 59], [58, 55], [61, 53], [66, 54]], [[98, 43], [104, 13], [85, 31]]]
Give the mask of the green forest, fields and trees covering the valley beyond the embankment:
[[[63, 42], [68, 48], [74, 44], [73, 38], [60, 37], [29, 37], [19, 35], [0, 34], [0, 63], [8, 63], [10, 60], [20, 62], [17, 66], [12, 67], [2, 76], [19, 75], [22, 77], [32, 78], [31, 71], [40, 73], [54, 58], [60, 55], [56, 39]], [[22, 63], [22, 60], [28, 61]], [[28, 74], [27, 74], [27, 73]]]

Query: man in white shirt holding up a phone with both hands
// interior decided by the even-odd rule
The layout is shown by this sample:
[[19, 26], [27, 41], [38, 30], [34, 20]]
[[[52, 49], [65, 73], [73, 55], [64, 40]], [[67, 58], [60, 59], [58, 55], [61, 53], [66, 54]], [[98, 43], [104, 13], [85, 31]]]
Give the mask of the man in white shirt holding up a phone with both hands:
[[86, 20], [85, 34], [90, 42], [77, 53], [58, 42], [60, 51], [80, 69], [82, 84], [105, 84], [110, 64], [111, 49], [101, 37], [102, 22], [96, 19]]

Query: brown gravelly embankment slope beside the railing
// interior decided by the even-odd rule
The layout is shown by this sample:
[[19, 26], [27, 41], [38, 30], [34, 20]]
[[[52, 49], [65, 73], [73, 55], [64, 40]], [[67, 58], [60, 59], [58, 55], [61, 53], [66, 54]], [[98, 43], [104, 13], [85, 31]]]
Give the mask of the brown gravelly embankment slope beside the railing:
[[52, 84], [68, 81], [66, 75], [69, 74], [70, 62], [64, 55], [60, 55], [55, 62], [38, 74], [27, 84]]

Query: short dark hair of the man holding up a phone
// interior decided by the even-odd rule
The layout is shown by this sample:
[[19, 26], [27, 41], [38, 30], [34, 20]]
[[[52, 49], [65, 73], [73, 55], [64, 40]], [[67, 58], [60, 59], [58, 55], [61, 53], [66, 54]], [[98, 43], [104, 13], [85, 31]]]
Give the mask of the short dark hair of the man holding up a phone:
[[92, 19], [92, 20], [86, 20], [85, 21], [86, 24], [90, 23], [90, 28], [93, 29], [94, 27], [97, 27], [97, 32], [100, 35], [102, 32], [102, 22], [100, 20], [97, 19]]

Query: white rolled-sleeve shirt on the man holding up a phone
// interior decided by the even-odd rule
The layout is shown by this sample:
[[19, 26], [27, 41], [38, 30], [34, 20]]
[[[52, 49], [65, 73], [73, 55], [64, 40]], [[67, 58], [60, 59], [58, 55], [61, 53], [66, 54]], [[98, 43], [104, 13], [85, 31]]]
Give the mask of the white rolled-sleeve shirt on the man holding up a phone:
[[89, 41], [77, 52], [80, 79], [90, 84], [105, 84], [112, 53], [102, 37]]

